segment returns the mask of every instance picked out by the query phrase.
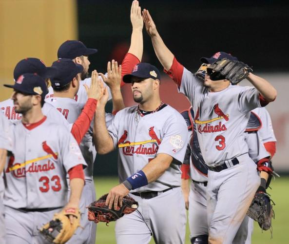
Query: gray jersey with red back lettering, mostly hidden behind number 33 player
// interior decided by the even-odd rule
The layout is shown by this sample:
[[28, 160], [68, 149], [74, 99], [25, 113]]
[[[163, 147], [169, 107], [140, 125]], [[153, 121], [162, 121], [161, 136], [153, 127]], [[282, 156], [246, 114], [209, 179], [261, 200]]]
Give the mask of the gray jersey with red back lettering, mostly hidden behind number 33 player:
[[[5, 101], [0, 102], [0, 108], [8, 120], [12, 122], [21, 120], [22, 115], [15, 112], [15, 107], [12, 99], [7, 99]], [[65, 118], [63, 118], [63, 116], [61, 116], [58, 113], [58, 111], [55, 109], [54, 106], [52, 106], [47, 102], [44, 102], [41, 110], [45, 116], [55, 119], [55, 121], [58, 122], [59, 124], [66, 126], [67, 129], [69, 129], [69, 131], [71, 130], [72, 124], [69, 124], [65, 120]]]

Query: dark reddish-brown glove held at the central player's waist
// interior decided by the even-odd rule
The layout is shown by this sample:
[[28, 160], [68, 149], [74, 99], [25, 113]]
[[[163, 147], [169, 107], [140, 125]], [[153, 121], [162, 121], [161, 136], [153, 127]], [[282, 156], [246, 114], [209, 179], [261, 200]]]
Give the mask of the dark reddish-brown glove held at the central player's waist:
[[111, 221], [116, 221], [121, 218], [124, 214], [130, 214], [134, 212], [138, 203], [135, 199], [125, 196], [122, 199], [122, 207], [118, 209], [109, 209], [107, 205], [105, 205], [105, 200], [108, 194], [103, 195], [97, 201], [91, 203], [88, 207], [88, 220], [98, 222], [106, 222], [108, 224]]

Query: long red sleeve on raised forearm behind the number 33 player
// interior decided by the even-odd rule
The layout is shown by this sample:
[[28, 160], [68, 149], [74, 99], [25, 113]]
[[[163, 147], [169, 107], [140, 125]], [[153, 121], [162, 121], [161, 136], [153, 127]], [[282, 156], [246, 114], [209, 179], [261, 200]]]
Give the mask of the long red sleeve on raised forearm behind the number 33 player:
[[89, 98], [85, 103], [85, 106], [82, 109], [81, 114], [74, 122], [71, 134], [76, 139], [77, 143], [79, 144], [84, 137], [85, 133], [88, 131], [90, 123], [93, 120], [95, 111], [96, 111], [96, 99]]

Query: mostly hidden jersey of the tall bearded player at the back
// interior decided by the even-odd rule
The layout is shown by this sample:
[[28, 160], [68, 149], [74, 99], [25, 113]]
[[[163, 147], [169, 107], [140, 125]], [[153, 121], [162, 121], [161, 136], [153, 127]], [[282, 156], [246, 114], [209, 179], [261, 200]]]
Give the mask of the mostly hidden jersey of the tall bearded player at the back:
[[[105, 74], [105, 76], [107, 76], [107, 74]], [[101, 76], [98, 76], [98, 78], [101, 79], [101, 81], [103, 82]], [[90, 87], [91, 78], [87, 78], [87, 79], [79, 82], [79, 89], [78, 89], [77, 95], [75, 96], [74, 99], [75, 99], [75, 101], [80, 102], [80, 103], [85, 103], [85, 102], [87, 101], [87, 99], [88, 99], [86, 90], [85, 90], [85, 88], [84, 88], [84, 86], [83, 86], [84, 84], [86, 84], [88, 87]], [[111, 99], [112, 99], [112, 94], [111, 94], [110, 88], [109, 88], [108, 85], [107, 85], [106, 83], [104, 83], [104, 82], [103, 82], [103, 85], [104, 85], [104, 87], [106, 87], [107, 90], [108, 90], [108, 93], [109, 93], [109, 98], [108, 98], [108, 100], [111, 100]], [[50, 86], [50, 87], [48, 88], [48, 93], [47, 93], [47, 95], [46, 95], [46, 99], [52, 98], [52, 97], [54, 97], [53, 88], [52, 88], [52, 86]]]

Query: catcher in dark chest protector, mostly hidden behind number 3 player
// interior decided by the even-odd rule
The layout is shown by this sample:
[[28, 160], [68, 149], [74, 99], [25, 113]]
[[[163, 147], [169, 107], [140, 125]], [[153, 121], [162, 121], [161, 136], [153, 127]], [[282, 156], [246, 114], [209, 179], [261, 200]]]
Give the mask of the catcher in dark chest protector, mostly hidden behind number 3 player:
[[[261, 110], [265, 108], [260, 108]], [[256, 111], [254, 109], [253, 111]], [[250, 158], [258, 163], [261, 160], [268, 160], [270, 155], [266, 151], [262, 140], [257, 136], [256, 131], [263, 127], [268, 133], [270, 132], [270, 117], [269, 120], [261, 122], [260, 118], [255, 113], [251, 112], [250, 121], [246, 128], [246, 142], [248, 144]], [[208, 167], [206, 166], [203, 157], [201, 155], [199, 144], [196, 135], [196, 126], [193, 122], [193, 108], [183, 111], [182, 116], [187, 122], [190, 140], [185, 156], [184, 163], [181, 166], [182, 170], [182, 190], [186, 208], [189, 210], [189, 227], [190, 227], [190, 239], [192, 244], [208, 243], [208, 223], [207, 223], [207, 199], [206, 199], [206, 186], [208, 183]], [[269, 115], [269, 113], [264, 113]], [[261, 172], [261, 174], [263, 171]], [[266, 173], [267, 174], [267, 173]], [[189, 179], [192, 182], [189, 187]], [[261, 175], [262, 179], [262, 175]], [[266, 184], [266, 183], [265, 183]], [[265, 190], [262, 186], [259, 186], [258, 190]], [[257, 190], [257, 191], [258, 191]], [[253, 230], [253, 220], [248, 216], [243, 220], [234, 240], [232, 243], [246, 243], [250, 244], [251, 233]]]

